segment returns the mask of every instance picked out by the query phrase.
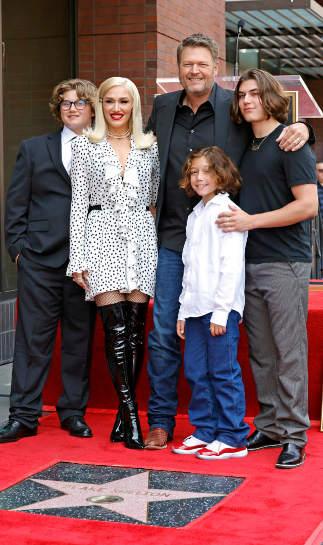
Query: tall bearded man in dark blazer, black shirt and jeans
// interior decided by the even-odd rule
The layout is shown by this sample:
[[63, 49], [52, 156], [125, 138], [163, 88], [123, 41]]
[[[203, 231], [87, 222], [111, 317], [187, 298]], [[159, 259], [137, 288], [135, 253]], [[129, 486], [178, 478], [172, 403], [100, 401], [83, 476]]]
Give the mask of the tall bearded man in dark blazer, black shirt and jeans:
[[[178, 396], [176, 385], [181, 365], [176, 321], [184, 265], [187, 216], [198, 202], [179, 189], [181, 168], [192, 150], [218, 146], [236, 165], [251, 141], [247, 124], [230, 119], [233, 91], [214, 82], [218, 45], [204, 34], [192, 34], [177, 50], [182, 91], [157, 95], [148, 128], [157, 137], [161, 184], [157, 197], [156, 228], [159, 257], [156, 272], [154, 329], [148, 337], [148, 374], [151, 395], [147, 449], [163, 449], [173, 437]], [[293, 151], [308, 140], [306, 124], [294, 124], [282, 132], [280, 146]]]

